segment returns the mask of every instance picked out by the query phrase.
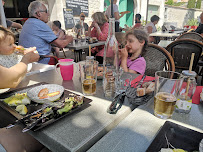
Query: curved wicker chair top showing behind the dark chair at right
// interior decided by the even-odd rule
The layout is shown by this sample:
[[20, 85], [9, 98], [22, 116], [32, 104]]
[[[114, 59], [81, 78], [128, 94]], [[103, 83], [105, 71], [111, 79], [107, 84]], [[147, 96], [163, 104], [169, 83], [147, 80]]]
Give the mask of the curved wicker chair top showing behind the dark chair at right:
[[198, 41], [203, 42], [202, 35], [200, 35], [199, 33], [196, 33], [196, 32], [187, 32], [187, 33], [184, 33], [184, 34], [180, 35], [177, 38], [177, 40], [179, 40], [179, 39], [193, 39], [193, 40], [198, 40]]

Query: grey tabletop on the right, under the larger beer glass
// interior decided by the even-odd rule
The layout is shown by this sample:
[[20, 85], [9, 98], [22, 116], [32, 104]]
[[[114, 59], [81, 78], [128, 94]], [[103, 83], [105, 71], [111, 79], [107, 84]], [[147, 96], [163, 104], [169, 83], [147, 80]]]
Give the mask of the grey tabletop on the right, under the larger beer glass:
[[[166, 122], [166, 120], [154, 116], [153, 106], [154, 99], [152, 98], [148, 103], [133, 110], [116, 128], [93, 145], [88, 152], [146, 151]], [[189, 114], [174, 112], [172, 118], [167, 119], [167, 121], [203, 133], [202, 118], [203, 103], [200, 103], [199, 105], [192, 104]]]

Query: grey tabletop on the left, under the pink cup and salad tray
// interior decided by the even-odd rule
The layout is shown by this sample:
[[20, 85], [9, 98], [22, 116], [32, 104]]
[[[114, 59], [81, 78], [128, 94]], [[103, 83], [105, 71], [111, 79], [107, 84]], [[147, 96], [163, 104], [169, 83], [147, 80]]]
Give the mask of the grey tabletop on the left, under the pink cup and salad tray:
[[[26, 76], [18, 88], [46, 82], [62, 85], [65, 89], [81, 95], [77, 65], [74, 65], [73, 80], [63, 81], [55, 70], [49, 70]], [[88, 105], [45, 128], [28, 133], [53, 152], [86, 151], [132, 111], [132, 107], [125, 104], [117, 114], [107, 113], [112, 99], [104, 97], [102, 80], [97, 82], [96, 95], [86, 98], [92, 100]]]

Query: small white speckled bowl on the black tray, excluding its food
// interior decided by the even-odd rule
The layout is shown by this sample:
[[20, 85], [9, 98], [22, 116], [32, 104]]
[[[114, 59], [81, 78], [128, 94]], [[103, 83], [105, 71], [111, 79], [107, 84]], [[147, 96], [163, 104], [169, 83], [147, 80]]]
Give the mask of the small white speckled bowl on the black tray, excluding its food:
[[[56, 96], [53, 96], [53, 97], [40, 99], [38, 97], [38, 93], [40, 92], [40, 90], [42, 90], [44, 88], [49, 89], [49, 93], [56, 92], [56, 91], [60, 91], [60, 93], [58, 95], [56, 95]], [[37, 86], [37, 87], [34, 87], [34, 88], [30, 89], [27, 92], [27, 95], [34, 102], [37, 102], [37, 103], [50, 103], [50, 102], [53, 102], [53, 101], [59, 99], [61, 97], [61, 95], [63, 94], [63, 92], [64, 92], [64, 87], [61, 86], [61, 85], [45, 84], [45, 85], [40, 85], [40, 86]]]

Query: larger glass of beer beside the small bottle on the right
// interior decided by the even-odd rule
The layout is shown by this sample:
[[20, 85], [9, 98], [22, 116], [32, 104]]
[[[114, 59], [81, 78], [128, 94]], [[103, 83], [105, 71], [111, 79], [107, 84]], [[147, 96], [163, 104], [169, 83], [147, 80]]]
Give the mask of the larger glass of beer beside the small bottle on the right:
[[178, 72], [155, 73], [154, 115], [168, 119], [172, 116], [182, 77]]

